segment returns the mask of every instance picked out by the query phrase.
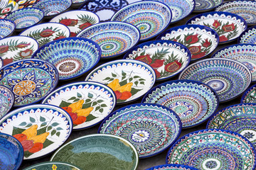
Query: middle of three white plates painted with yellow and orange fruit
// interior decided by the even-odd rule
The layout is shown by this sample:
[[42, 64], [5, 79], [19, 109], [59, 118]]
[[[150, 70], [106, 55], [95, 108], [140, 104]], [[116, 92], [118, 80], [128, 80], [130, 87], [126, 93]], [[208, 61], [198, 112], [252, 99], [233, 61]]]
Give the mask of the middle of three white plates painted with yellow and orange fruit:
[[116, 102], [110, 87], [92, 81], [61, 86], [42, 101], [67, 111], [73, 119], [74, 130], [90, 128], [99, 123], [112, 112]]

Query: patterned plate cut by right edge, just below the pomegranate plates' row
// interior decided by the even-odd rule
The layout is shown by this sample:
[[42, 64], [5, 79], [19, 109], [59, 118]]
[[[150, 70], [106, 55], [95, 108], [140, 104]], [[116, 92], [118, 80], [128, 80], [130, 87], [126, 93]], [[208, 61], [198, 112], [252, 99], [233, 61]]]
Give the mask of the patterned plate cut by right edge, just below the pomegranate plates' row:
[[256, 81], [256, 45], [255, 44], [238, 44], [224, 47], [212, 55], [213, 58], [229, 58], [242, 62], [250, 69], [252, 81]]

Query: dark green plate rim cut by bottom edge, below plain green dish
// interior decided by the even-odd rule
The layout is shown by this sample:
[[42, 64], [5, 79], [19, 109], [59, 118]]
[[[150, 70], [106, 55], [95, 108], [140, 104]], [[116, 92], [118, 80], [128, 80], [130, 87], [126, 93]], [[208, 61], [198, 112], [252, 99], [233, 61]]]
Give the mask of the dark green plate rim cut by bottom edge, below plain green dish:
[[23, 170], [57, 170], [57, 169], [62, 169], [62, 170], [80, 170], [77, 166], [73, 164], [68, 164], [66, 162], [42, 162], [39, 164], [35, 164], [32, 166], [27, 167], [26, 169]]

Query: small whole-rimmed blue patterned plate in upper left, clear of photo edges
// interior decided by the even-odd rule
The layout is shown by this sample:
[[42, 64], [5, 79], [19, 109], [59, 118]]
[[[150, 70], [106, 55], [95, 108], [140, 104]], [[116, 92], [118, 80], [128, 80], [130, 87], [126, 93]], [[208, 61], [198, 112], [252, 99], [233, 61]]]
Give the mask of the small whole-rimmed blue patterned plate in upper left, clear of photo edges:
[[14, 21], [16, 31], [36, 25], [43, 19], [44, 13], [40, 8], [21, 8], [9, 13], [5, 19]]

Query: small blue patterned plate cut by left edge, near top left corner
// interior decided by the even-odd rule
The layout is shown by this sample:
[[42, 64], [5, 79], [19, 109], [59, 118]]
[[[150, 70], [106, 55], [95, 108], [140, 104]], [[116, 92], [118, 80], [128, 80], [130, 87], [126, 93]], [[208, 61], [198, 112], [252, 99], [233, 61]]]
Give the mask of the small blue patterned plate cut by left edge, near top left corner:
[[0, 39], [6, 38], [12, 33], [14, 33], [15, 28], [16, 28], [16, 25], [14, 21], [7, 20], [7, 19], [0, 19]]

